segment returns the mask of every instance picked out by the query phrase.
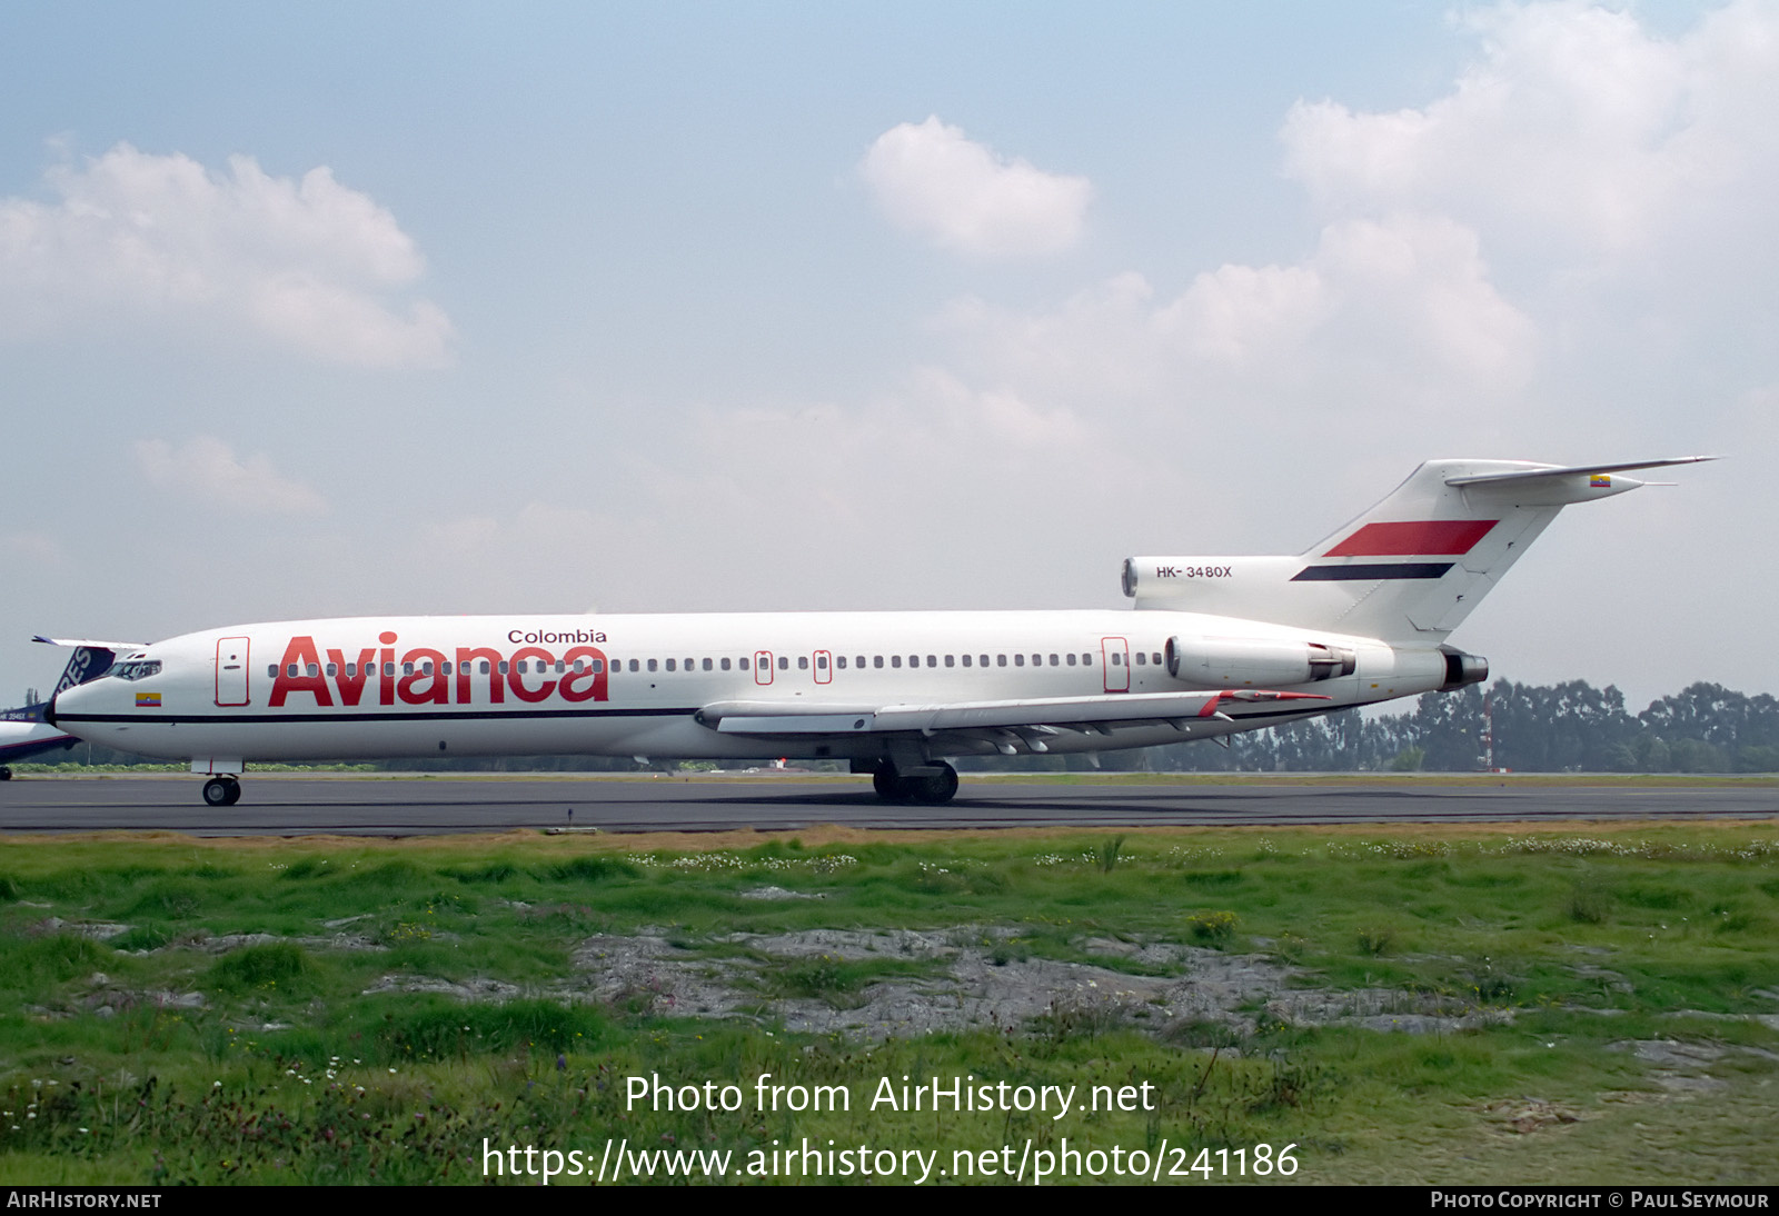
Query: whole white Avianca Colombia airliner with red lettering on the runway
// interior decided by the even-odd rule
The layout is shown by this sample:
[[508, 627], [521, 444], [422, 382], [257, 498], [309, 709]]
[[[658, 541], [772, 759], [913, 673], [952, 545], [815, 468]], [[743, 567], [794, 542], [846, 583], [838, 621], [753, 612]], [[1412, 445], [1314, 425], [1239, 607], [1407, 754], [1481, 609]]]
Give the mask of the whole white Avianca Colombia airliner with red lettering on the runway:
[[[1631, 471], [1429, 460], [1293, 556], [1133, 556], [1135, 612], [352, 617], [121, 647], [44, 715], [190, 761], [420, 756], [843, 759], [945, 804], [952, 759], [1224, 738], [1489, 676], [1446, 636], [1571, 505]], [[53, 638], [37, 638], [52, 642]], [[1226, 740], [1224, 740], [1226, 741]]]

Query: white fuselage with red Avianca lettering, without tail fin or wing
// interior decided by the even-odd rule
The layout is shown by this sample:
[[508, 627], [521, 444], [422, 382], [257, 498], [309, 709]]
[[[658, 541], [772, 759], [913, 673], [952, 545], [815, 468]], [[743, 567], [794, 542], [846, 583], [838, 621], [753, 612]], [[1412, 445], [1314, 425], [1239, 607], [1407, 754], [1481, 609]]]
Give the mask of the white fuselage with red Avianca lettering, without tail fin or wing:
[[[1231, 706], [1190, 732], [1165, 722], [1064, 732], [1034, 750], [1229, 734], [1446, 679], [1436, 649], [1181, 612], [358, 617], [169, 638], [62, 692], [53, 716], [84, 740], [219, 772], [397, 756], [865, 757], [881, 738], [765, 741], [713, 729], [703, 711], [740, 702], [836, 715], [1226, 686], [1169, 676], [1160, 658], [1176, 636], [1336, 642], [1357, 665], [1299, 686], [1316, 700]], [[996, 750], [970, 734], [923, 747]]]

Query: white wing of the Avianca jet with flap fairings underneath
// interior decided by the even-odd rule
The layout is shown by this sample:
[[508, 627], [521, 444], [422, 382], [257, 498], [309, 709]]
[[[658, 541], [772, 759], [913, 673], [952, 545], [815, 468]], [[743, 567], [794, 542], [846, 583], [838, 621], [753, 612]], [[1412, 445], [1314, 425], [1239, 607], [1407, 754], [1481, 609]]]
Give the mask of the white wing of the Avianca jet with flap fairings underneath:
[[1042, 736], [1062, 731], [1112, 734], [1115, 727], [1167, 724], [1187, 736], [1222, 734], [1220, 724], [1233, 722], [1222, 706], [1261, 700], [1327, 700], [1327, 697], [1242, 688], [1192, 693], [1044, 697], [1037, 700], [962, 700], [932, 706], [720, 700], [699, 709], [697, 720], [720, 734], [761, 740], [818, 734], [920, 734], [925, 738], [943, 734], [991, 743], [996, 750], [1012, 754], [1018, 745], [1042, 752], [1046, 750]]

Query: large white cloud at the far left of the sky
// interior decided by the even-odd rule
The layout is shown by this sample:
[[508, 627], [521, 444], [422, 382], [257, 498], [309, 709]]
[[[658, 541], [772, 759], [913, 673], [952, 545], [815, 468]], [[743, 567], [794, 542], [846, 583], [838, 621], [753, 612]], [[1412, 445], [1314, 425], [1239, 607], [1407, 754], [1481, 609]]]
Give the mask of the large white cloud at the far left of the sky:
[[53, 203], [0, 199], [0, 334], [110, 324], [247, 329], [327, 363], [441, 366], [452, 325], [404, 295], [415, 242], [327, 169], [212, 172], [117, 144], [44, 174]]

